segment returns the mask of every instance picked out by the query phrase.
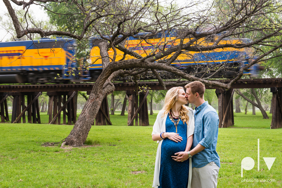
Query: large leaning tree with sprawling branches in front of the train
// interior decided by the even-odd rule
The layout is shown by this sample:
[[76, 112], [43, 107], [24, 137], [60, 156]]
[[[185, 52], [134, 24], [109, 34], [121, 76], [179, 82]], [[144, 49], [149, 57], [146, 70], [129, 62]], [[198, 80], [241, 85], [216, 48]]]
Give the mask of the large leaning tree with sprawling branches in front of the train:
[[[279, 22], [282, 18], [282, 5], [279, 0], [196, 0], [181, 5], [158, 0], [30, 0], [29, 2], [3, 0], [3, 2], [13, 20], [17, 38], [30, 33], [39, 33], [41, 37], [64, 35], [77, 40], [94, 35], [96, 37], [103, 70], [73, 130], [62, 145], [83, 145], [102, 100], [115, 89], [111, 81], [117, 76], [131, 76], [133, 81], [138, 83], [138, 79], [150, 75], [165, 87], [166, 84], [159, 74], [162, 70], [173, 73], [187, 82], [198, 80], [210, 87], [230, 89], [231, 85], [242, 77], [244, 70], [248, 70], [250, 66], [260, 61], [279, 56], [277, 54], [269, 57], [269, 54], [282, 47], [279, 39], [282, 35], [281, 22]], [[68, 25], [65, 30], [61, 28], [50, 31], [30, 26], [23, 29], [20, 27], [11, 2], [23, 6], [25, 11], [28, 11], [31, 4], [41, 6], [46, 8], [49, 15], [57, 14], [64, 19], [71, 18], [63, 20], [65, 23], [68, 21], [79, 23], [70, 24], [75, 29], [71, 29]], [[55, 12], [53, 10], [60, 8], [55, 9], [53, 6], [53, 9], [49, 9], [51, 3], [52, 6], [64, 6], [68, 11]], [[273, 15], [278, 15], [278, 21], [272, 21]], [[161, 38], [156, 43], [148, 40], [148, 38], [157, 39], [159, 37], [156, 36], [165, 36], [167, 32], [172, 31], [177, 31], [176, 38]], [[136, 35], [140, 32], [146, 33]], [[128, 37], [140, 40], [138, 47], [141, 49], [143, 44], [151, 45], [151, 50], [140, 55], [132, 48], [126, 48], [124, 41]], [[262, 49], [265, 46], [267, 50]], [[110, 49], [114, 53], [111, 57], [108, 53]], [[257, 57], [249, 64], [238, 67], [237, 75], [228, 84], [209, 79], [219, 71], [229, 70], [231, 67], [228, 62], [234, 60], [232, 56], [221, 64], [188, 66], [187, 72], [171, 66], [180, 57], [190, 57], [193, 60], [194, 53], [204, 55], [207, 52], [221, 52], [222, 49], [229, 52], [238, 51], [239, 59], [251, 58], [254, 55]], [[117, 57], [118, 50], [125, 54], [124, 58]], [[246, 52], [249, 54], [246, 55]], [[177, 81], [171, 84], [179, 85]]]

